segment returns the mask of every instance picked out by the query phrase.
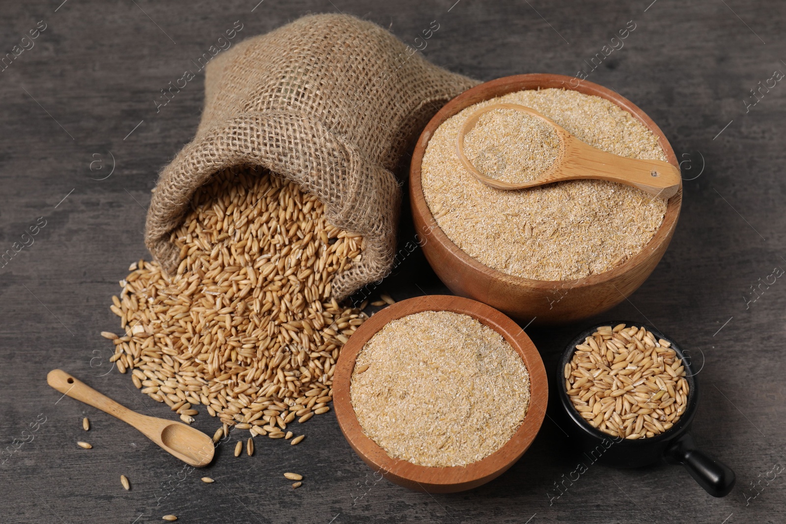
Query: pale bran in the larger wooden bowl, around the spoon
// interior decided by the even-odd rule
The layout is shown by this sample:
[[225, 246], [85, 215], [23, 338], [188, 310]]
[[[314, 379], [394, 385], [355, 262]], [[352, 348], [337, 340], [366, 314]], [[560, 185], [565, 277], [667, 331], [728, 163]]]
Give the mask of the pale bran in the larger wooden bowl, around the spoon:
[[641, 251], [663, 222], [665, 200], [596, 180], [505, 191], [465, 170], [456, 153], [458, 130], [473, 112], [499, 102], [533, 108], [615, 155], [666, 160], [654, 134], [601, 97], [524, 90], [472, 105], [435, 130], [421, 167], [426, 202], [450, 240], [486, 266], [536, 280], [603, 273]]

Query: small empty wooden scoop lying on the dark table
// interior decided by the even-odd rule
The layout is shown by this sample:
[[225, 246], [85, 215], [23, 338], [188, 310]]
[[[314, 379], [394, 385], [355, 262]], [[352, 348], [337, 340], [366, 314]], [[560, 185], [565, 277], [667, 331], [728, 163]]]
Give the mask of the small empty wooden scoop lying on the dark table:
[[67, 394], [71, 398], [90, 404], [129, 423], [185, 464], [202, 467], [213, 460], [215, 448], [212, 439], [195, 427], [131, 411], [61, 369], [50, 371], [46, 376], [46, 383], [62, 394]]

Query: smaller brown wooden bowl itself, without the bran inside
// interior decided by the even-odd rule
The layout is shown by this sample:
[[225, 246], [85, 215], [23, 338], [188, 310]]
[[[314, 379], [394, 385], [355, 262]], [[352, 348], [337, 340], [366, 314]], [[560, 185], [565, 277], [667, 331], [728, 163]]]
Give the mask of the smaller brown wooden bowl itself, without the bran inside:
[[[494, 329], [510, 343], [527, 365], [530, 374], [530, 407], [521, 426], [500, 449], [483, 460], [466, 466], [427, 467], [389, 456], [384, 449], [363, 433], [354, 414], [350, 383], [354, 363], [365, 343], [387, 323], [422, 311], [453, 311], [475, 318]], [[538, 434], [549, 400], [545, 368], [534, 344], [509, 317], [474, 300], [450, 295], [426, 295], [397, 302], [375, 313], [349, 339], [336, 364], [333, 375], [333, 409], [341, 431], [355, 453], [384, 478], [400, 486], [428, 493], [454, 493], [472, 489], [497, 478], [519, 460]]]

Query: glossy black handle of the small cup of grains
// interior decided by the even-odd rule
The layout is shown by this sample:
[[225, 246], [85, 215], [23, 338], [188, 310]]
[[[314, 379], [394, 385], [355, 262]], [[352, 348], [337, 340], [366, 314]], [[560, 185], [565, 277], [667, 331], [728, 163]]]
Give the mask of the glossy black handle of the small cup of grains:
[[734, 487], [734, 471], [696, 449], [696, 442], [689, 434], [684, 434], [673, 442], [665, 456], [667, 462], [685, 466], [699, 486], [713, 497], [725, 497]]

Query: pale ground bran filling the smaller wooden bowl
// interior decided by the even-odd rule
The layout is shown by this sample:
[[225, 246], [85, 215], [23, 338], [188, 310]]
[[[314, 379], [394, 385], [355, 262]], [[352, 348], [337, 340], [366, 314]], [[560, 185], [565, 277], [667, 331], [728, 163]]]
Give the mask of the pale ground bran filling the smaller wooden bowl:
[[498, 332], [461, 313], [424, 311], [363, 346], [350, 395], [363, 431], [388, 455], [461, 466], [509, 441], [527, 415], [530, 381]]

